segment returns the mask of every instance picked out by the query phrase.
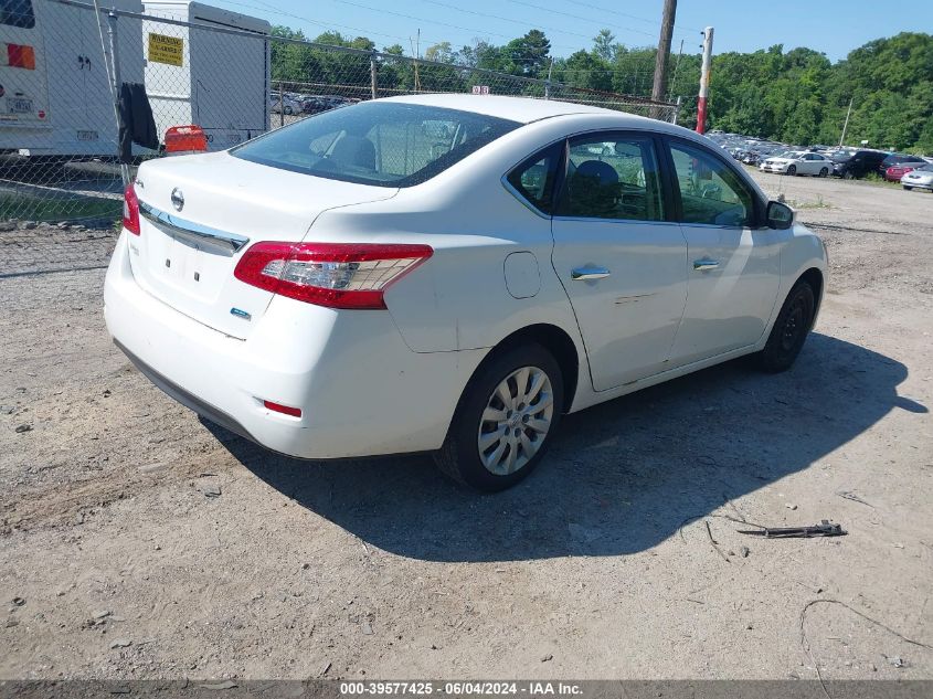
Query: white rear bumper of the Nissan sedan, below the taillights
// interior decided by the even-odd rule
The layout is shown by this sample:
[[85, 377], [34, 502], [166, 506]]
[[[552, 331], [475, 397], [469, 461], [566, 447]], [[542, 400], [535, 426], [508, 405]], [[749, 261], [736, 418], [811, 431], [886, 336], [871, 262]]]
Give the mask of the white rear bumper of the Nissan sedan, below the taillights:
[[[486, 350], [414, 352], [385, 311], [275, 297], [247, 339], [223, 335], [136, 283], [127, 233], [104, 290], [115, 342], [183, 405], [275, 452], [346, 458], [438, 448]], [[263, 405], [301, 409], [294, 417]]]

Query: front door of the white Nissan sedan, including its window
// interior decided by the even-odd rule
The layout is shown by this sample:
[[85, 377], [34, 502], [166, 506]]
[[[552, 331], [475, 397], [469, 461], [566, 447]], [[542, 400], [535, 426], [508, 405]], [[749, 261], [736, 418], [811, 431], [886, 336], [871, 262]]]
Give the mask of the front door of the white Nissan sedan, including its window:
[[687, 306], [671, 366], [754, 345], [777, 295], [786, 231], [759, 225], [756, 194], [722, 158], [696, 144], [669, 141], [668, 166], [687, 239]]

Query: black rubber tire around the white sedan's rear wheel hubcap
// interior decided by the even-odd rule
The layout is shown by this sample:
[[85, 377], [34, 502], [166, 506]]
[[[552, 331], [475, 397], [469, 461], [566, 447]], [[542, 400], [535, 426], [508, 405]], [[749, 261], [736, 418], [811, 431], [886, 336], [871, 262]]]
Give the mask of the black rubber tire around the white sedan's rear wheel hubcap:
[[[499, 475], [487, 469], [480, 458], [478, 444], [483, 428], [483, 415], [492, 399], [496, 388], [515, 371], [532, 367], [543, 371], [551, 383], [553, 412], [550, 427], [528, 462], [513, 473]], [[444, 445], [434, 455], [437, 467], [454, 480], [483, 493], [497, 493], [510, 488], [527, 477], [548, 451], [551, 438], [558, 431], [563, 407], [563, 375], [554, 357], [537, 343], [522, 345], [494, 352], [470, 379], [454, 420], [447, 431]]]

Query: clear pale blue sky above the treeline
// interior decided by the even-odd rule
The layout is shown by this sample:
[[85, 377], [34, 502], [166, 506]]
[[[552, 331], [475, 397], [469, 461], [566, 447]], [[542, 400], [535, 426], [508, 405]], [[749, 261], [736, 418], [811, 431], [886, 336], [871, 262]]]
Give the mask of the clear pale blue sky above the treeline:
[[[300, 29], [372, 39], [379, 49], [401, 44], [411, 53], [421, 30], [421, 52], [449, 41], [459, 49], [483, 39], [503, 44], [541, 29], [551, 53], [591, 49], [608, 28], [628, 46], [656, 45], [662, 0], [202, 0]], [[751, 52], [777, 43], [807, 46], [831, 61], [872, 39], [903, 31], [933, 33], [933, 1], [907, 0], [680, 0], [674, 51], [699, 53], [704, 27], [715, 29], [713, 53]]]

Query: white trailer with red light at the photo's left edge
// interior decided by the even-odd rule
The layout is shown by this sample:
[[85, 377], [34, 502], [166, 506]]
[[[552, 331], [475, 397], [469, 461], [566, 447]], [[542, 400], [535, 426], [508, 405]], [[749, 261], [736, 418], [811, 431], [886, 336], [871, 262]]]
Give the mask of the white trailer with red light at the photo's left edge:
[[[140, 0], [106, 6], [142, 11]], [[119, 18], [117, 41], [120, 81], [141, 83], [140, 20]], [[0, 152], [115, 156], [116, 144], [95, 12], [54, 0], [0, 0]]]

